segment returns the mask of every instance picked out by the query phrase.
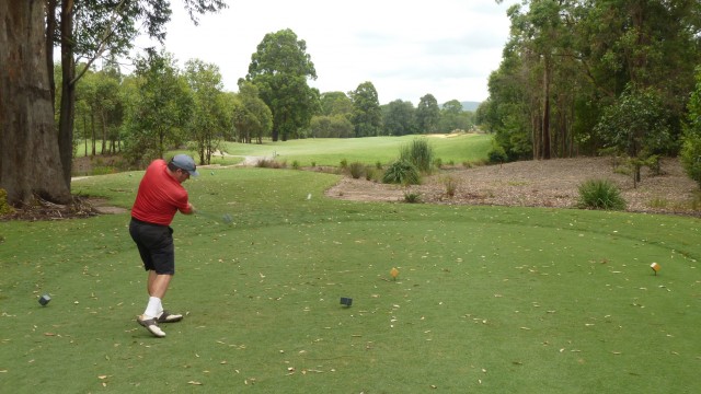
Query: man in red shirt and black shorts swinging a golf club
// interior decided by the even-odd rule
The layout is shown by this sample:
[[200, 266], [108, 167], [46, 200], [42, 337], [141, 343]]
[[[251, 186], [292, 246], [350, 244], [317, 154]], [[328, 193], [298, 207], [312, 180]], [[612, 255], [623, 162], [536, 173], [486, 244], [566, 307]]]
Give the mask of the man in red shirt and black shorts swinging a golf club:
[[131, 207], [129, 234], [136, 243], [143, 268], [148, 271], [149, 302], [137, 322], [152, 335], [164, 337], [159, 323], [180, 322], [183, 315], [163, 310], [162, 300], [175, 275], [173, 229], [170, 224], [177, 211], [192, 215], [195, 207], [187, 200], [182, 183], [197, 176], [193, 158], [176, 154], [165, 163], [158, 159], [146, 169]]

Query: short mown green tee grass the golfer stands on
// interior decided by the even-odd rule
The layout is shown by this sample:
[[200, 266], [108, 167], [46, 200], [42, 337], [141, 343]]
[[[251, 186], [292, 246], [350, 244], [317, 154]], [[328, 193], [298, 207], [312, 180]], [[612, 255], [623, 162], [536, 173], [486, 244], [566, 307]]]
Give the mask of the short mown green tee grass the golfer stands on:
[[[129, 207], [140, 175], [72, 187]], [[337, 179], [188, 181], [196, 207], [234, 223], [176, 217], [164, 303], [188, 314], [161, 339], [135, 322], [146, 274], [128, 215], [0, 222], [0, 391], [701, 390], [698, 219], [323, 197]]]

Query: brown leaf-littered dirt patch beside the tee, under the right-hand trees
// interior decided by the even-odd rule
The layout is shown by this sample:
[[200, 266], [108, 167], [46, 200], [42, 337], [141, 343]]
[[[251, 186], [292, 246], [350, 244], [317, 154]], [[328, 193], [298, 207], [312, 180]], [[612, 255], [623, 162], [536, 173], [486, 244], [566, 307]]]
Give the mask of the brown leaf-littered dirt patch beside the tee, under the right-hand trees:
[[[620, 187], [628, 211], [698, 215], [691, 201], [699, 186], [685, 174], [679, 160], [663, 160], [662, 170], [660, 175], [643, 171], [642, 182], [633, 187], [632, 177], [614, 172], [608, 158], [522, 161], [446, 169], [407, 188], [345, 177], [326, 195], [347, 200], [403, 201], [411, 193], [427, 204], [576, 208], [583, 182], [610, 179]], [[448, 179], [456, 185], [452, 197], [447, 195]]]

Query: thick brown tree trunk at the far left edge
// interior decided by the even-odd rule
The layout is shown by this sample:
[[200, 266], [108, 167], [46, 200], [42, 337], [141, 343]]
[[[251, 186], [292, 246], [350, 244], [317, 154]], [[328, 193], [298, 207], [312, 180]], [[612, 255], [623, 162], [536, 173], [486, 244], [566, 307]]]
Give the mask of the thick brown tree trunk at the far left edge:
[[8, 202], [69, 204], [46, 61], [46, 0], [0, 1], [0, 187]]

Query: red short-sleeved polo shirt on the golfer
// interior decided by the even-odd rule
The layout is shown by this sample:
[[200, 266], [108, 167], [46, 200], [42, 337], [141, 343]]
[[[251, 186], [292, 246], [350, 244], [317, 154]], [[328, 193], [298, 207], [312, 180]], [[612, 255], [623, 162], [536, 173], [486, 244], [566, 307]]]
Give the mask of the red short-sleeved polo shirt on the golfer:
[[162, 159], [154, 160], [141, 178], [131, 217], [140, 221], [170, 225], [176, 211], [189, 212], [187, 190], [168, 173]]

